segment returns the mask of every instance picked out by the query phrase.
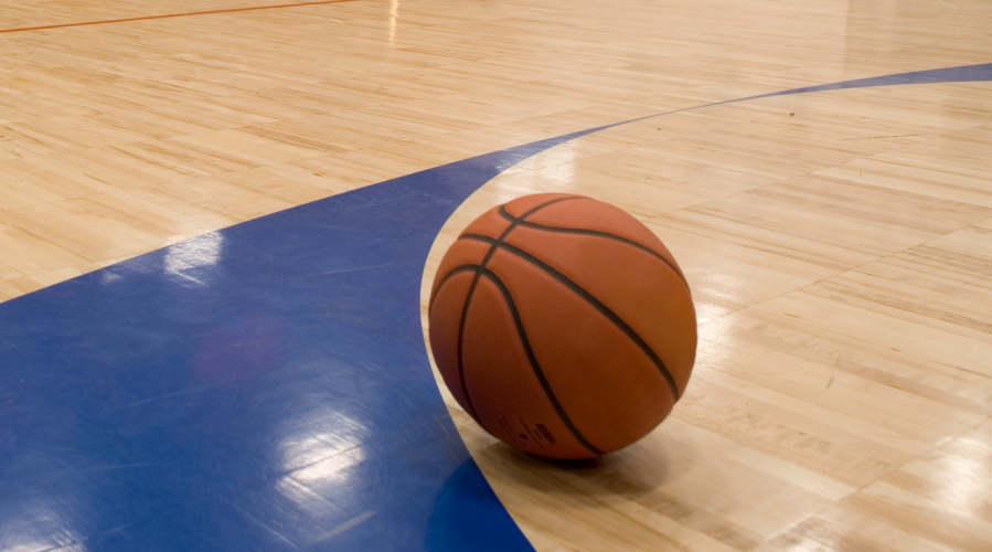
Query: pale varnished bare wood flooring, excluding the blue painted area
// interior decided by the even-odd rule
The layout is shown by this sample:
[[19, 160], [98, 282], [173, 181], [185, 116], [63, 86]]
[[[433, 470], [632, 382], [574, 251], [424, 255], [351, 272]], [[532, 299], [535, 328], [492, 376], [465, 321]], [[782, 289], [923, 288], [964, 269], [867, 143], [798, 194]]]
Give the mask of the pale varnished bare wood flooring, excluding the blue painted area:
[[[572, 131], [992, 62], [980, 0], [243, 10], [273, 3], [0, 0], [0, 298]], [[223, 12], [159, 18], [203, 11]], [[64, 26], [99, 21], [117, 22]], [[538, 191], [655, 231], [701, 341], [672, 416], [596, 463], [516, 454], [441, 390], [536, 550], [992, 549], [992, 83], [768, 97], [574, 139], [462, 204], [424, 289], [468, 221]]]

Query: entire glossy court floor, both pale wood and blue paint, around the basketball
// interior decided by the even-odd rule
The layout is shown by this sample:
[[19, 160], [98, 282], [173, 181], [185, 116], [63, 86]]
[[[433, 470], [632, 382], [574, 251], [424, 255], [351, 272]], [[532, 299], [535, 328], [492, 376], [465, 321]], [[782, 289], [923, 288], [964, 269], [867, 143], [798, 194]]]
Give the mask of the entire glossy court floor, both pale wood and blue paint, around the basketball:
[[[0, 31], [265, 6], [207, 3]], [[0, 293], [109, 266], [0, 305], [0, 550], [988, 550], [990, 29], [355, 0], [0, 33]], [[494, 443], [420, 338], [445, 246], [535, 191], [643, 220], [700, 315], [672, 416], [594, 463]]]

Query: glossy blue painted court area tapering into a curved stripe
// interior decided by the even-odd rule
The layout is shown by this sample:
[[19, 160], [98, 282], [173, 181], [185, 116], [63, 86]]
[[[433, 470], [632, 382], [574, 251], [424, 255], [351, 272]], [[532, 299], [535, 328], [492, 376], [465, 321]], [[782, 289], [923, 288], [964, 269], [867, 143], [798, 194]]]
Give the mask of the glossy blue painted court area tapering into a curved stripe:
[[[990, 66], [777, 94], [968, 79]], [[437, 392], [419, 278], [471, 192], [602, 128], [0, 305], [0, 550], [532, 550]]]

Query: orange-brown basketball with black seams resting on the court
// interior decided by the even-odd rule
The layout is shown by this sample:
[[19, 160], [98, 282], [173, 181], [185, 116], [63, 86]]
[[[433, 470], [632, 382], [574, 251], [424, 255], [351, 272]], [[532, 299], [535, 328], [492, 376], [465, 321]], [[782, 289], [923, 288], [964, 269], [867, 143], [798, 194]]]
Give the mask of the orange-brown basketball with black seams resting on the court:
[[430, 348], [458, 403], [521, 450], [590, 458], [647, 435], [685, 391], [696, 320], [668, 248], [618, 208], [542, 193], [445, 254]]

